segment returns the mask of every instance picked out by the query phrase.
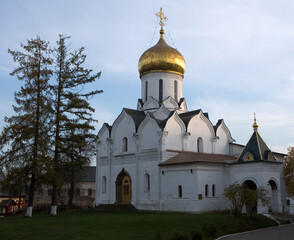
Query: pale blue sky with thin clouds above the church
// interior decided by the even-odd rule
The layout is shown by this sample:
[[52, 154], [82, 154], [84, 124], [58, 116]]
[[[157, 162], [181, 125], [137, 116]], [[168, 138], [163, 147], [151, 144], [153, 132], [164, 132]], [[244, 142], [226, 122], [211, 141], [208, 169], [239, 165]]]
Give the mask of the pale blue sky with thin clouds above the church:
[[71, 36], [85, 47], [86, 67], [102, 72], [91, 99], [99, 128], [112, 125], [122, 108], [141, 98], [138, 60], [159, 39], [158, 19], [167, 16], [166, 41], [186, 61], [183, 96], [188, 110], [224, 119], [238, 144], [259, 133], [272, 151], [294, 146], [293, 0], [0, 0], [0, 130], [13, 114], [21, 82], [8, 49], [40, 36], [56, 44]]

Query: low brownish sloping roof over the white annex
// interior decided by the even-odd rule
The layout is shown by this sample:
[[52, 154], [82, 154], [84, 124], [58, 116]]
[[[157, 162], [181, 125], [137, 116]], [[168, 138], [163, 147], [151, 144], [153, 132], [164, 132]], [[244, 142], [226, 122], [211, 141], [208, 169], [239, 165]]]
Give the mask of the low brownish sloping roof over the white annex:
[[198, 153], [198, 152], [179, 152], [178, 155], [160, 163], [159, 166], [208, 162], [208, 163], [232, 163], [236, 158], [228, 155], [211, 154], [211, 153]]

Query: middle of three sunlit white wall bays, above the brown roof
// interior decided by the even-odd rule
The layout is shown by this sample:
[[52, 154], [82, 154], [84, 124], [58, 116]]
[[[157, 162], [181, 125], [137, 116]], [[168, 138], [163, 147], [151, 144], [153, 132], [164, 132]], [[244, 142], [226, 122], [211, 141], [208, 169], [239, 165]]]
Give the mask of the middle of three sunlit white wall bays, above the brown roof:
[[190, 136], [186, 142], [187, 151], [196, 152], [197, 139], [201, 137], [203, 140], [203, 152], [212, 153], [212, 139], [214, 134], [208, 124], [200, 117], [200, 114], [190, 120], [187, 132], [190, 132]]

